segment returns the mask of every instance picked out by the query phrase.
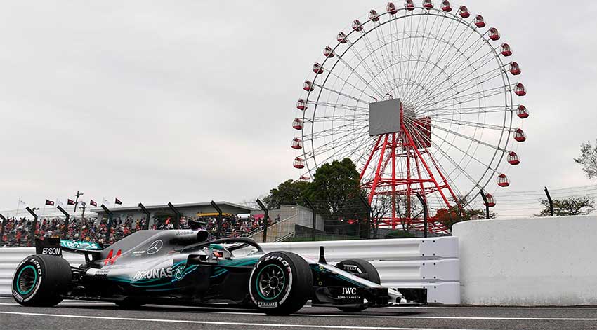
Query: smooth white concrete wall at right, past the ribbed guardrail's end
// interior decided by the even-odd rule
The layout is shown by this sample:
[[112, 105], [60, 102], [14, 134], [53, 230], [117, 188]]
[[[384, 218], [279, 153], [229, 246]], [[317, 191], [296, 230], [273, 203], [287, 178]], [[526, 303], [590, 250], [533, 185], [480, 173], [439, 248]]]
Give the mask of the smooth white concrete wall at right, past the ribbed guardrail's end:
[[596, 233], [597, 216], [456, 224], [461, 302], [597, 305]]

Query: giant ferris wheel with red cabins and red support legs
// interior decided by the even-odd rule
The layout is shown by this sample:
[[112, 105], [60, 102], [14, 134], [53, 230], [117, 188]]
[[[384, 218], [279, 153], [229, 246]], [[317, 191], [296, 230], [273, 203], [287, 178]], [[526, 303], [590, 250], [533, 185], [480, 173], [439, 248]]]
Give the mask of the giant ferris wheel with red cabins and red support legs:
[[370, 203], [391, 198], [383, 224], [421, 225], [411, 209], [419, 194], [431, 230], [445, 231], [434, 214], [509, 186], [506, 167], [520, 164], [527, 91], [500, 39], [450, 1], [388, 3], [354, 20], [324, 47], [296, 103], [300, 178], [348, 157]]

